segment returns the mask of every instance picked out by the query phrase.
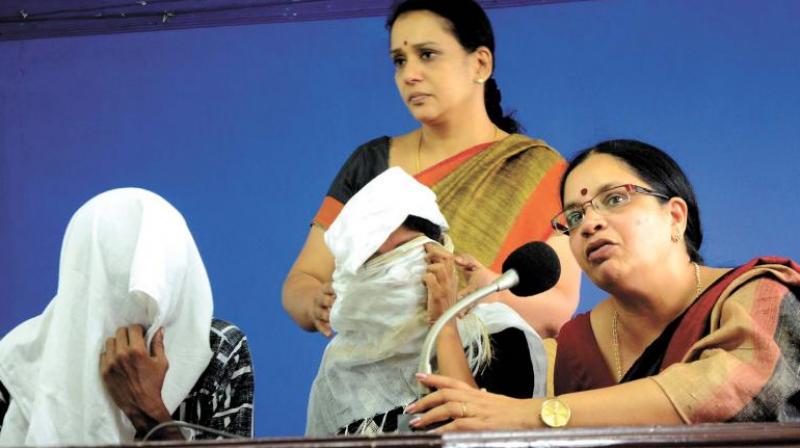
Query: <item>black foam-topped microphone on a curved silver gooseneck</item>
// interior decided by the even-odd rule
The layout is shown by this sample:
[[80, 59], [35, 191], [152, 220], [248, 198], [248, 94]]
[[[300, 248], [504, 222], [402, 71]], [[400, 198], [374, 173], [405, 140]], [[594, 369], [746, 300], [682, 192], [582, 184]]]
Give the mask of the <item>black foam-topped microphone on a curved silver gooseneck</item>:
[[[534, 241], [515, 249], [503, 262], [503, 275], [456, 302], [436, 320], [422, 345], [422, 356], [417, 371], [432, 373], [431, 355], [439, 333], [450, 319], [470, 305], [504, 289], [510, 289], [514, 295], [520, 297], [536, 295], [555, 286], [560, 277], [561, 263], [558, 261], [558, 255], [547, 244]], [[430, 392], [427, 386], [417, 384], [420, 396]]]

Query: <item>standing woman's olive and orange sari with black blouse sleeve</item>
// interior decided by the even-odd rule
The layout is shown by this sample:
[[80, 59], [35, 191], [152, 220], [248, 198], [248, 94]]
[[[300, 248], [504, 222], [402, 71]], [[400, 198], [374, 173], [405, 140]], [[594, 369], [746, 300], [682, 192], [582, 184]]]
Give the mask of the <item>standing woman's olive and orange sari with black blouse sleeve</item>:
[[[359, 147], [336, 176], [314, 218], [327, 229], [349, 198], [388, 168], [390, 139]], [[541, 140], [512, 134], [464, 150], [414, 176], [430, 187], [460, 252], [499, 272], [517, 247], [546, 240], [560, 210], [566, 162]]]

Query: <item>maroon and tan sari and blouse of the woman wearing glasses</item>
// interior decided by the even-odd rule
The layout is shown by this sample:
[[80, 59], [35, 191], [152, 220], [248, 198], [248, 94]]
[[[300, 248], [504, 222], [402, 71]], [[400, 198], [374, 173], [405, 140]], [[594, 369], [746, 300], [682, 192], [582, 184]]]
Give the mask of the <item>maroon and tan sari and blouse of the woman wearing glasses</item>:
[[[800, 266], [756, 258], [707, 288], [621, 382], [654, 381], [685, 423], [800, 421], [798, 316]], [[556, 394], [616, 384], [588, 313], [558, 342]]]

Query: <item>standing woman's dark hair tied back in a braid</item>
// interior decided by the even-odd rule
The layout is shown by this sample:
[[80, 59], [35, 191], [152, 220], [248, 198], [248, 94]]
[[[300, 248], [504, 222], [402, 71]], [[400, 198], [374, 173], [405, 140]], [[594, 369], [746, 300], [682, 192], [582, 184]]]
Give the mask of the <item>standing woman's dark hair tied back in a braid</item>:
[[[394, 22], [401, 15], [412, 11], [430, 11], [450, 23], [450, 32], [469, 53], [478, 47], [486, 47], [494, 56], [494, 32], [489, 17], [481, 6], [473, 0], [402, 0], [395, 2], [392, 13], [386, 19], [386, 29], [391, 30]], [[494, 64], [497, 67], [495, 61]], [[489, 77], [484, 83], [483, 102], [489, 119], [498, 128], [515, 133], [522, 126], [514, 119], [514, 113], [503, 115], [500, 105], [503, 97], [497, 87], [497, 81]]]

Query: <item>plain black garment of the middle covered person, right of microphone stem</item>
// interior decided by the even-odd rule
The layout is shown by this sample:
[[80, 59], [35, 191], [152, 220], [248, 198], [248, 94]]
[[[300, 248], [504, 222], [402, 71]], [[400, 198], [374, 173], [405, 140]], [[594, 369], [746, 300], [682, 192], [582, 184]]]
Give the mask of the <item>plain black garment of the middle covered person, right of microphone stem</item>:
[[475, 382], [489, 392], [514, 398], [533, 396], [534, 373], [525, 333], [507, 328], [491, 334], [492, 361]]

